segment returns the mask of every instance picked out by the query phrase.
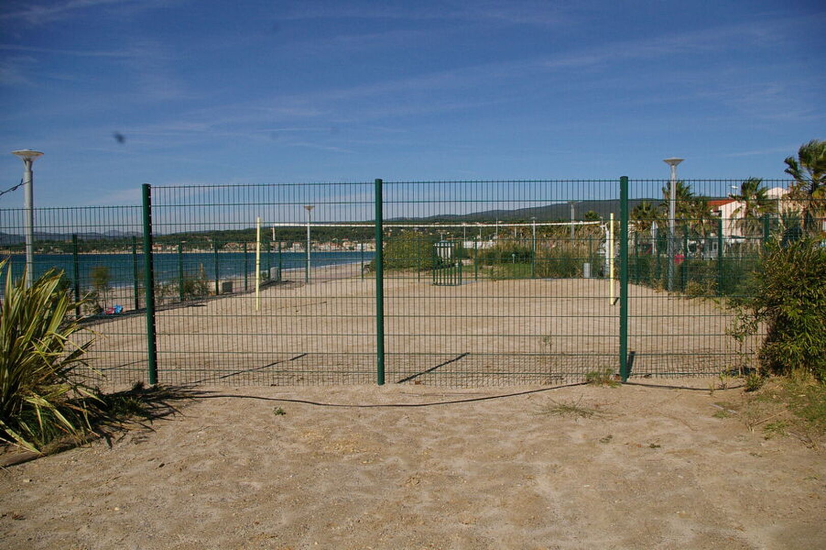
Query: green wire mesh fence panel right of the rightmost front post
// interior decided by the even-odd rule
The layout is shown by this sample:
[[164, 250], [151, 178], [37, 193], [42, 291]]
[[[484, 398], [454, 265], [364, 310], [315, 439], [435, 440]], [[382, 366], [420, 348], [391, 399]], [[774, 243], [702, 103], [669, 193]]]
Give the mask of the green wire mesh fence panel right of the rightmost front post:
[[761, 268], [762, 247], [781, 238], [781, 215], [798, 208], [790, 182], [633, 180], [630, 188], [632, 374], [756, 366], [765, 328], [747, 333], [733, 306], [752, 293], [750, 274]]

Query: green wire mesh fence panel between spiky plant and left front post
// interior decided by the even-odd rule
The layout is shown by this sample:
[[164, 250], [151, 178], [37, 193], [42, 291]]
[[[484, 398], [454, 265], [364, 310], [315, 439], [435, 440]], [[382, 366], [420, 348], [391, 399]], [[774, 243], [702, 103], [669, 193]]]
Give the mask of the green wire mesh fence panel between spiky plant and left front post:
[[[0, 210], [0, 247], [12, 275], [26, 266], [23, 209]], [[32, 246], [34, 279], [49, 270], [83, 305], [69, 312], [87, 330], [75, 343], [93, 340], [88, 373], [99, 385], [125, 385], [146, 372], [143, 316], [143, 250], [140, 207], [38, 208]], [[0, 293], [6, 281], [0, 280]]]

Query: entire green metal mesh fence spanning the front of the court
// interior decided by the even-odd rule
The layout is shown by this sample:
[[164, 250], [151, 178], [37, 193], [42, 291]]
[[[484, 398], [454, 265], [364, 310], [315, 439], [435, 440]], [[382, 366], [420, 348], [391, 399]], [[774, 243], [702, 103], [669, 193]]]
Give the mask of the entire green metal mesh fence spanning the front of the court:
[[[102, 383], [522, 385], [710, 375], [760, 250], [800, 208], [739, 180], [142, 188], [36, 211], [36, 271], [87, 304]], [[738, 194], [739, 193], [739, 194]], [[21, 209], [0, 248], [24, 263]]]

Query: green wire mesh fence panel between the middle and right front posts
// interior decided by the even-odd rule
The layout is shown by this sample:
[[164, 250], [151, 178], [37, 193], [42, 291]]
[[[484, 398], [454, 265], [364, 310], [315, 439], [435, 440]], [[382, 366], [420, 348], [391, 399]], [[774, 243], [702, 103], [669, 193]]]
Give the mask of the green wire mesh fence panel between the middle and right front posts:
[[602, 218], [617, 191], [604, 181], [385, 184], [387, 380], [548, 384], [615, 366]]

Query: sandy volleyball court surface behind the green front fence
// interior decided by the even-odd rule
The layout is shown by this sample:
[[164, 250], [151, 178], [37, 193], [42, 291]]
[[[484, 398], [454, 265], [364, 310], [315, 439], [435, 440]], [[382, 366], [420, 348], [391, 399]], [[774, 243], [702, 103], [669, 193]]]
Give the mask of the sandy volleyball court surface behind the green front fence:
[[[355, 269], [355, 273], [354, 273]], [[160, 308], [159, 380], [247, 385], [365, 384], [376, 380], [376, 285], [358, 265], [316, 270], [254, 294]], [[479, 387], [558, 384], [619, 368], [619, 304], [596, 279], [385, 280], [388, 381]], [[616, 285], [619, 288], [619, 285]], [[115, 383], [145, 379], [145, 318], [93, 327], [91, 353]], [[729, 317], [708, 299], [629, 288], [634, 373], [715, 374], [738, 365]], [[747, 342], [744, 352], [754, 349]], [[748, 353], [747, 353], [748, 354]]]

